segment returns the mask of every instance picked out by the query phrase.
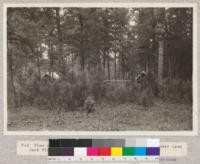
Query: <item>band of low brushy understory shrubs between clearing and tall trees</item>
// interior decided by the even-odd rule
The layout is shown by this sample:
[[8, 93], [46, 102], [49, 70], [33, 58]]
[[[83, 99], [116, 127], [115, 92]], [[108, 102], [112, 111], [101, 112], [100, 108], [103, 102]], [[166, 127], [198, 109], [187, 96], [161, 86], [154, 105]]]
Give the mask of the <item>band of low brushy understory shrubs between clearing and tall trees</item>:
[[[141, 92], [135, 81], [105, 80], [103, 72], [76, 70], [73, 79], [52, 79], [50, 76], [39, 78], [35, 74], [18, 76], [15, 88], [9, 87], [8, 94], [18, 107], [35, 105], [40, 109], [77, 110], [87, 108], [90, 111], [91, 99], [95, 104], [102, 101], [114, 103], [138, 102], [140, 98], [148, 100], [146, 92]], [[11, 85], [11, 84], [9, 84]], [[159, 93], [160, 98], [175, 102], [192, 103], [192, 82], [181, 79], [165, 79], [163, 86], [157, 83], [150, 86], [152, 97]], [[11, 101], [11, 100], [9, 100]], [[89, 103], [88, 103], [89, 102]], [[89, 105], [88, 105], [89, 104]], [[92, 108], [94, 106], [92, 105]], [[91, 110], [92, 111], [92, 110]]]

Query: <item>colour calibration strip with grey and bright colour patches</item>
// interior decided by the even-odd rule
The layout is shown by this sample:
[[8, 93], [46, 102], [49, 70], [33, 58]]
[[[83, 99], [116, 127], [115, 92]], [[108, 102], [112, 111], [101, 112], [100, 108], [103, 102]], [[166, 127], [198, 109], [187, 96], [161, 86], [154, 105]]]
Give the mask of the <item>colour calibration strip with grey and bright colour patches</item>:
[[50, 139], [48, 156], [159, 156], [159, 139]]

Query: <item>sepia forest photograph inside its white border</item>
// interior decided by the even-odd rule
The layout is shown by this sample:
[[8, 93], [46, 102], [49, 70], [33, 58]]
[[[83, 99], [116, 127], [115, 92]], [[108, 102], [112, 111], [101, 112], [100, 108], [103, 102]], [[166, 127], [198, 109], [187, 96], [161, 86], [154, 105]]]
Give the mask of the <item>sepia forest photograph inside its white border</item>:
[[192, 8], [7, 8], [8, 130], [192, 130], [192, 20]]

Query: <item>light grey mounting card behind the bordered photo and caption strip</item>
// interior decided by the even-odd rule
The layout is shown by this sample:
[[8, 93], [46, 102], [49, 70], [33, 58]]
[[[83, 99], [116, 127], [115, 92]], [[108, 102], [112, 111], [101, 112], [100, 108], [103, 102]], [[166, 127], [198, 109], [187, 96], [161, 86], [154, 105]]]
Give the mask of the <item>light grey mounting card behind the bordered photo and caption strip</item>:
[[[64, 0], [0, 0], [0, 164], [45, 164], [47, 163], [46, 157], [39, 157], [39, 156], [17, 156], [16, 155], [16, 141], [17, 140], [45, 140], [49, 138], [59, 138], [59, 136], [5, 136], [3, 135], [3, 3], [45, 3], [45, 2], [71, 2], [71, 3], [78, 3], [78, 2], [195, 2], [198, 3], [198, 26], [200, 22], [200, 0], [70, 0], [70, 1], [64, 1]], [[198, 43], [197, 45], [200, 45], [200, 32], [196, 34], [198, 35]], [[198, 47], [198, 51], [200, 51], [200, 46]], [[198, 57], [198, 61], [199, 57]], [[198, 65], [198, 83], [200, 78], [200, 65]], [[198, 93], [199, 93], [199, 87]], [[200, 99], [198, 99], [199, 101]], [[199, 113], [199, 111], [198, 111]], [[73, 136], [75, 137], [75, 136]], [[86, 136], [85, 138], [92, 138], [93, 136]], [[106, 137], [106, 136], [105, 136]], [[132, 137], [132, 138], [138, 138]], [[148, 136], [146, 136], [148, 137]], [[149, 136], [151, 137], [151, 136]], [[62, 138], [67, 138], [66, 136], [62, 136]], [[68, 136], [68, 138], [71, 138]], [[76, 136], [76, 138], [78, 138]], [[120, 138], [117, 136], [113, 136], [110, 138]], [[121, 137], [124, 138], [124, 137]], [[162, 137], [159, 136], [158, 138], [161, 138], [161, 141], [168, 141], [168, 142], [187, 142], [188, 143], [188, 156], [184, 158], [177, 158], [176, 162], [170, 162], [170, 163], [176, 163], [176, 164], [199, 164], [200, 163], [200, 137], [183, 137], [183, 136], [171, 136], [171, 137]], [[168, 163], [168, 162], [166, 162]]]

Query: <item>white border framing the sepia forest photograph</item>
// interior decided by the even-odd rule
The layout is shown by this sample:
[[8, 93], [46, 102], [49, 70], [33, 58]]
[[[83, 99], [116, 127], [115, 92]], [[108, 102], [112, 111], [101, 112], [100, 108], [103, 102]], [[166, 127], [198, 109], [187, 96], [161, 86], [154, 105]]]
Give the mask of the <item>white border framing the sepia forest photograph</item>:
[[[8, 7], [81, 7], [81, 8], [193, 8], [193, 126], [191, 131], [8, 131], [7, 130], [7, 8]], [[198, 83], [197, 83], [197, 3], [4, 3], [3, 4], [3, 116], [4, 135], [48, 136], [197, 136], [198, 135]]]

